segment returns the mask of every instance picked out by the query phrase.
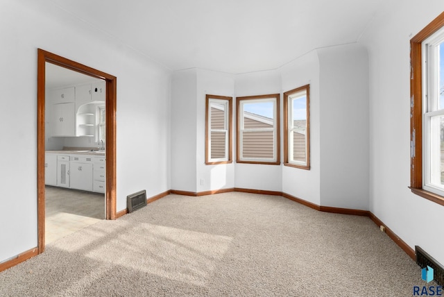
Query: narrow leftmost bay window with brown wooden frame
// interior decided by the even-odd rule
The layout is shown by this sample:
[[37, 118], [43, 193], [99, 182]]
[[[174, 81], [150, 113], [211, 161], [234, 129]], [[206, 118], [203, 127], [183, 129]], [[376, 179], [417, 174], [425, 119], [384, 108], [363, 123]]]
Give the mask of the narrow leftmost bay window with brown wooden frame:
[[232, 162], [232, 97], [206, 96], [205, 163]]

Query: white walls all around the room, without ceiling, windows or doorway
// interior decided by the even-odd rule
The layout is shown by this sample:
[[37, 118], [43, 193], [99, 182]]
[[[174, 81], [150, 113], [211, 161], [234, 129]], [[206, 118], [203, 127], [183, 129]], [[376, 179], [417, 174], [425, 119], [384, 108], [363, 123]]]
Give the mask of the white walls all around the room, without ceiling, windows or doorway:
[[[365, 87], [365, 71], [357, 68], [365, 67], [366, 58], [359, 48], [319, 50], [279, 70], [240, 74], [234, 78], [234, 87], [230, 76], [196, 69], [176, 72], [171, 82], [170, 71], [59, 10], [53, 1], [1, 1], [0, 153], [7, 158], [0, 161], [0, 262], [37, 246], [35, 123], [37, 48], [42, 48], [117, 76], [118, 211], [126, 207], [126, 196], [140, 189], [146, 189], [148, 196], [168, 189], [200, 192], [232, 185], [282, 191], [320, 205], [359, 209], [367, 205], [409, 246], [422, 246], [444, 263], [444, 238], [439, 236], [443, 234], [444, 207], [408, 189], [409, 39], [443, 8], [441, 0], [428, 1], [427, 7], [420, 1], [392, 0], [375, 15], [360, 40], [369, 59], [367, 115], [364, 95], [356, 95], [359, 101], [353, 101], [353, 94]], [[348, 60], [349, 54], [357, 65]], [[337, 69], [341, 69], [339, 76]], [[355, 73], [357, 78], [352, 77]], [[312, 86], [311, 171], [275, 165], [232, 164], [217, 169], [203, 165], [205, 92], [282, 94], [307, 82]], [[342, 97], [345, 89], [350, 94]], [[341, 103], [341, 117], [330, 112], [336, 101]], [[352, 130], [345, 118], [350, 113], [359, 123]], [[360, 128], [366, 130], [366, 117], [370, 123], [370, 187], [365, 183], [366, 134], [358, 133]], [[340, 151], [331, 139], [335, 125], [345, 129], [340, 134], [344, 144], [351, 147], [359, 139], [357, 148], [364, 151], [351, 155]], [[343, 164], [341, 158], [334, 159], [333, 153], [347, 153], [359, 165], [344, 167], [343, 178], [336, 170]], [[352, 176], [359, 168], [362, 172]], [[225, 180], [213, 182], [213, 172]], [[204, 187], [200, 187], [200, 178], [206, 181]], [[345, 184], [350, 178], [354, 185]]]

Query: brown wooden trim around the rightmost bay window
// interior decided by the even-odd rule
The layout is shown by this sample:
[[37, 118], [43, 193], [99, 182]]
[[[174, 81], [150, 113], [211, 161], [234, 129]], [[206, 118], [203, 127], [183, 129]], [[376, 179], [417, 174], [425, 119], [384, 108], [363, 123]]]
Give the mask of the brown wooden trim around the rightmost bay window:
[[[289, 162], [289, 102], [291, 94], [305, 90], [307, 92], [307, 164], [298, 165]], [[310, 170], [310, 85], [303, 85], [284, 92], [284, 166]]]

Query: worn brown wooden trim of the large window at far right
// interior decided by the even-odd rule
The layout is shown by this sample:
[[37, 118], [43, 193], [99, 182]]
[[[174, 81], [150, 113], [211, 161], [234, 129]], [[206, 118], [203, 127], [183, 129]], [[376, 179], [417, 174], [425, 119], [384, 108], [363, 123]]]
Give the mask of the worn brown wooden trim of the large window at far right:
[[444, 197], [422, 189], [422, 42], [444, 26], [444, 12], [410, 40], [411, 192], [444, 205]]

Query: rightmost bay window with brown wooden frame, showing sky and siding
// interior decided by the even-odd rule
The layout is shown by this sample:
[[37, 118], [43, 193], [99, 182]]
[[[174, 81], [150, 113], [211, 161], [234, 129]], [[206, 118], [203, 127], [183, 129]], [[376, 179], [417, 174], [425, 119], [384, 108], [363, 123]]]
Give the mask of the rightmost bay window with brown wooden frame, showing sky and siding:
[[310, 169], [309, 85], [284, 92], [284, 165]]

